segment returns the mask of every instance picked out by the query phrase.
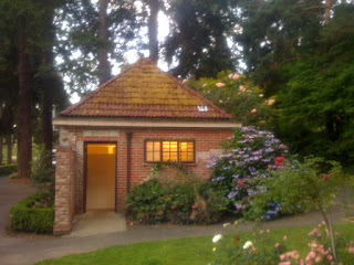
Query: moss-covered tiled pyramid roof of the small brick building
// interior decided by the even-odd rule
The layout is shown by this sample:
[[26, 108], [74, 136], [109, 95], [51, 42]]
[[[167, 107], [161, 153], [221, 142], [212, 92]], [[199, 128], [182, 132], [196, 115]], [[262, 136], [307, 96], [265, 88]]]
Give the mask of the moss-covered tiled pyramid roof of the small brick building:
[[149, 59], [140, 59], [62, 116], [231, 119]]

